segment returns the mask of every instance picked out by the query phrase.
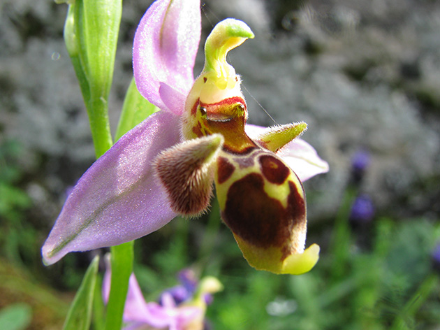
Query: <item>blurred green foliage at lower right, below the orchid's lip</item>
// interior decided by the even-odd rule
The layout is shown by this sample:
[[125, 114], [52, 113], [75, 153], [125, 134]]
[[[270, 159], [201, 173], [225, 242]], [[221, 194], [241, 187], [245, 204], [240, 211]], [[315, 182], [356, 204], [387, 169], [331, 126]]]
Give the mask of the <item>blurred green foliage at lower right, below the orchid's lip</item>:
[[438, 224], [426, 220], [381, 219], [371, 249], [349, 244], [346, 271], [337, 280], [331, 250], [323, 250], [318, 265], [304, 275], [251, 268], [240, 278], [220, 275], [226, 290], [208, 315], [215, 329], [427, 329], [440, 321], [439, 278], [429, 253], [438, 232]]

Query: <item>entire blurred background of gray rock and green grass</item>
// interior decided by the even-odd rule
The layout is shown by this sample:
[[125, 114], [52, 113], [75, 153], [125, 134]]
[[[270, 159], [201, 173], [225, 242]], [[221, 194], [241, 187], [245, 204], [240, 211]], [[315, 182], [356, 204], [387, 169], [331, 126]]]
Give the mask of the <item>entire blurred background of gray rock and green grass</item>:
[[[151, 2], [124, 1], [113, 128]], [[66, 192], [94, 162], [66, 10], [0, 4], [0, 329], [61, 329], [104, 252], [41, 263]], [[225, 286], [207, 311], [214, 329], [440, 329], [440, 2], [210, 0], [202, 10], [202, 41], [226, 17], [256, 34], [229, 55], [249, 122], [307, 122], [303, 138], [330, 164], [305, 182], [307, 245], [321, 245], [321, 259], [300, 276], [255, 271], [213, 201], [209, 215], [136, 241], [147, 301], [191, 267]], [[202, 66], [200, 52], [196, 75]]]

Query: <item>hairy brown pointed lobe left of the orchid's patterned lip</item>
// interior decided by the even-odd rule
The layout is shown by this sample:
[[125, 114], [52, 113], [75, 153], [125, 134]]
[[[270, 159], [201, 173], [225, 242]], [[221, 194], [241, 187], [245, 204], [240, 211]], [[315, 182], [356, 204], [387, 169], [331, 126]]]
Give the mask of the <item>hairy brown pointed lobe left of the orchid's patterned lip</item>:
[[163, 151], [154, 160], [156, 175], [176, 213], [196, 216], [209, 206], [215, 164], [223, 141], [220, 134], [185, 141]]

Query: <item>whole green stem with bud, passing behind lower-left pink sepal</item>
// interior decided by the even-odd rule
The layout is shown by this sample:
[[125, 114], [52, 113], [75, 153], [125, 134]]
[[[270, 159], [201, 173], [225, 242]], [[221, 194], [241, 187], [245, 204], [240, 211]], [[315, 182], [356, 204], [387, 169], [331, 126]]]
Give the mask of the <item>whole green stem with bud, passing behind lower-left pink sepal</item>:
[[[115, 66], [122, 0], [75, 0], [69, 5], [64, 40], [85, 101], [96, 158], [112, 147], [108, 96]], [[111, 247], [112, 283], [105, 329], [121, 329], [133, 242]]]

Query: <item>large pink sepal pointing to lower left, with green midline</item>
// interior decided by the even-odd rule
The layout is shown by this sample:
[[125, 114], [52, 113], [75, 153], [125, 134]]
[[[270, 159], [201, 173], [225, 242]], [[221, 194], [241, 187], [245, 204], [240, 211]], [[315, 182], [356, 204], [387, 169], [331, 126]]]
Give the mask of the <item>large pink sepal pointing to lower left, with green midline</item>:
[[99, 158], [68, 196], [42, 248], [45, 264], [68, 252], [118, 245], [145, 236], [175, 217], [154, 179], [152, 160], [179, 143], [179, 117], [149, 116]]

